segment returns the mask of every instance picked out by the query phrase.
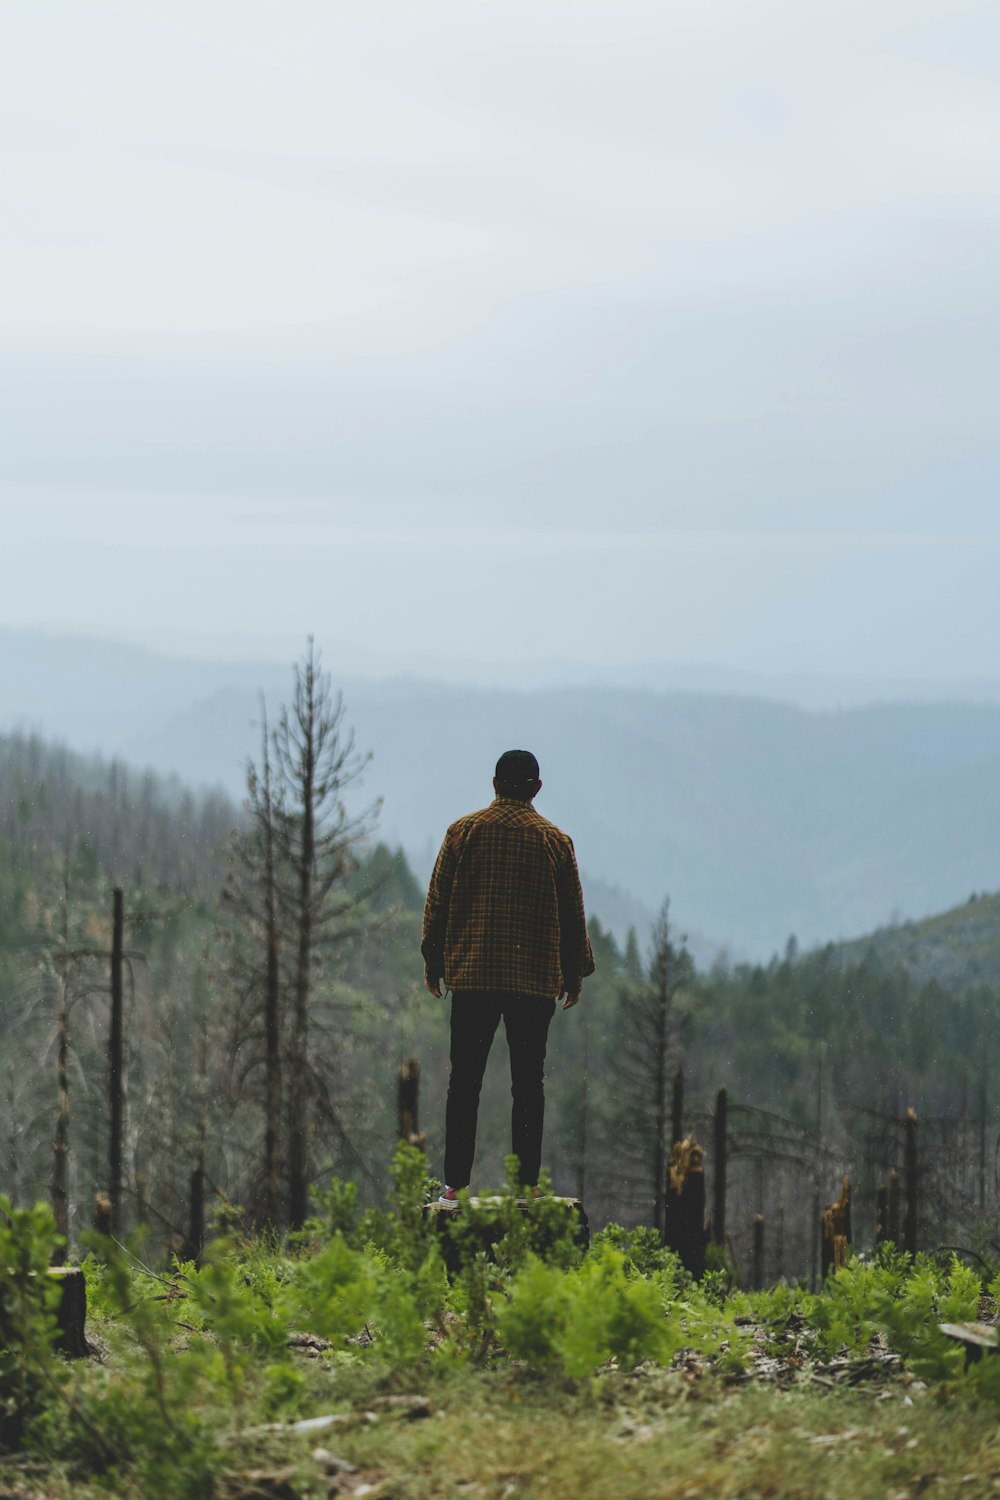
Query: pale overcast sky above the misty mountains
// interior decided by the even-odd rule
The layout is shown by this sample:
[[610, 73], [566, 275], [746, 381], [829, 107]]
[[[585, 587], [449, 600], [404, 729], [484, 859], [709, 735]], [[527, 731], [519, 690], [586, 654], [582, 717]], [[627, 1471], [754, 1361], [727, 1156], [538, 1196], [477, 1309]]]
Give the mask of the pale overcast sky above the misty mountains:
[[996, 3], [6, 0], [0, 132], [0, 624], [1000, 675]]

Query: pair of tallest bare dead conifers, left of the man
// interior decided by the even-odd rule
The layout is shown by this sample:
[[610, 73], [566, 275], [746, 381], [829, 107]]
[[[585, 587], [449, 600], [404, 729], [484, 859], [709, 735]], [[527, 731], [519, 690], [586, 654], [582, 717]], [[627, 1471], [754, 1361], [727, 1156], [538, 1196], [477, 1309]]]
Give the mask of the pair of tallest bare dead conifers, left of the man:
[[[378, 804], [351, 798], [369, 756], [355, 750], [340, 694], [309, 640], [295, 666], [291, 704], [247, 766], [246, 819], [232, 843], [225, 902], [234, 916], [228, 976], [235, 994], [231, 1090], [244, 1096], [262, 1083], [264, 1142], [261, 1216], [279, 1218], [282, 1166], [288, 1173], [286, 1221], [307, 1214], [310, 1119], [330, 1124], [316, 1095], [315, 1041], [330, 1056], [337, 1005], [319, 976], [334, 942], [363, 930], [349, 914], [363, 896], [349, 890], [355, 849]], [[351, 804], [351, 806], [349, 806]], [[364, 892], [367, 894], [367, 892]], [[336, 1038], [333, 1054], [336, 1059]], [[286, 1080], [294, 1080], [288, 1086]], [[339, 1132], [337, 1132], [339, 1134]]]

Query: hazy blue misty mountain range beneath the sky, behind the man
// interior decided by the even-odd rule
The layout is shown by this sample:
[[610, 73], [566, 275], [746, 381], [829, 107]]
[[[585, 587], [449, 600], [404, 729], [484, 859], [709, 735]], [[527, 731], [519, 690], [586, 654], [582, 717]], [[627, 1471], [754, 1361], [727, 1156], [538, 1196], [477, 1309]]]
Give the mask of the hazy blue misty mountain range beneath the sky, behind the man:
[[[574, 837], [589, 908], [619, 932], [670, 896], [705, 958], [766, 957], [919, 918], [1000, 886], [1000, 704], [807, 710], [723, 693], [477, 688], [340, 675], [372, 752], [379, 834], [426, 874], [447, 824], [532, 748], [540, 810]], [[222, 786], [237, 798], [291, 668], [183, 662], [0, 632], [0, 730]]]

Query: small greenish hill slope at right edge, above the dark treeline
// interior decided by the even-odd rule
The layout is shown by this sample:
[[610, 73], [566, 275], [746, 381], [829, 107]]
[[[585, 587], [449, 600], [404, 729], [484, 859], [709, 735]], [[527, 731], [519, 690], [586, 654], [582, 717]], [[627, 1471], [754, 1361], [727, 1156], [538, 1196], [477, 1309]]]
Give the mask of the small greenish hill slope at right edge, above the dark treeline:
[[951, 912], [880, 927], [835, 951], [844, 963], [874, 956], [885, 968], [906, 969], [919, 984], [936, 981], [952, 993], [978, 984], [1000, 988], [1000, 894], [972, 896]]

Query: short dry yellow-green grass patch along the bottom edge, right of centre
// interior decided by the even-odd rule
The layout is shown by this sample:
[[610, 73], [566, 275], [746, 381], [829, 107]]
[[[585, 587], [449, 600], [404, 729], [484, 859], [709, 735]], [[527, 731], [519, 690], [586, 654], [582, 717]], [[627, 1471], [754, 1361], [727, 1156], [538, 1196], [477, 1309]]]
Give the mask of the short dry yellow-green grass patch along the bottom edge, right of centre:
[[[909, 1402], [909, 1404], [907, 1404]], [[358, 1426], [342, 1456], [399, 1500], [898, 1500], [1000, 1492], [990, 1408], [906, 1389], [727, 1389], [670, 1371], [570, 1395], [483, 1380], [424, 1422]]]

